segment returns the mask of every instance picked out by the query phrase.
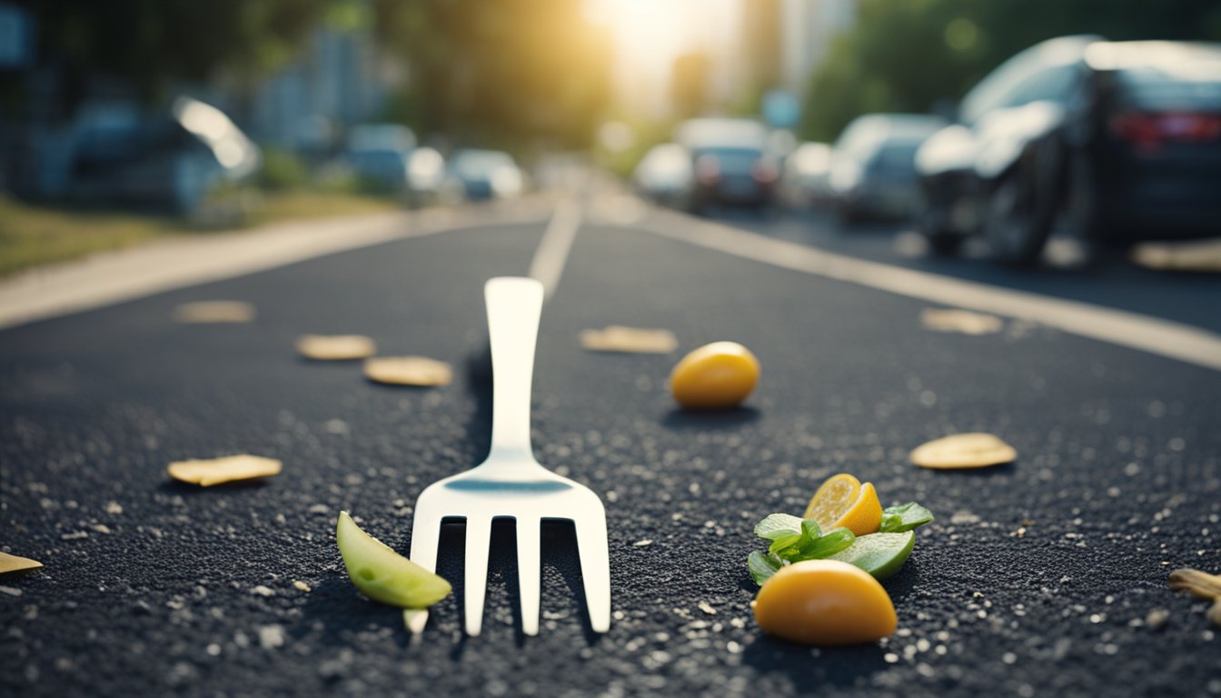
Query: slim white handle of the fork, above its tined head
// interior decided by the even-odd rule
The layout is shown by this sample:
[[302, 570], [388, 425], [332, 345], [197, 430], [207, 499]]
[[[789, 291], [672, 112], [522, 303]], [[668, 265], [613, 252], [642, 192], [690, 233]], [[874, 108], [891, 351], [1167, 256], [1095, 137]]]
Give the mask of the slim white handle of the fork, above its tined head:
[[492, 450], [488, 460], [534, 460], [530, 383], [542, 314], [542, 284], [499, 276], [484, 286], [492, 345]]

